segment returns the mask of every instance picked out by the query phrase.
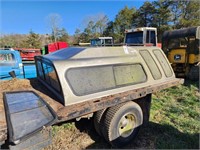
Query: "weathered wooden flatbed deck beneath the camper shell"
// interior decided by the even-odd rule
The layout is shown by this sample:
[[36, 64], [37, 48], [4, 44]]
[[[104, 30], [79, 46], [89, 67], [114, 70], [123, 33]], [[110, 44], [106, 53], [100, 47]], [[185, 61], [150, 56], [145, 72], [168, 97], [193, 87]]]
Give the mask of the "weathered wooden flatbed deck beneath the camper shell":
[[[23, 81], [26, 81], [29, 83], [29, 80], [16, 80], [14, 79], [14, 82], [17, 82], [17, 84], [20, 84]], [[37, 79], [30, 79], [32, 80], [35, 84], [39, 84]], [[12, 81], [4, 81], [4, 82], [12, 82]], [[105, 97], [100, 97], [98, 99], [93, 99], [89, 102], [83, 102], [79, 104], [74, 104], [71, 106], [64, 106], [61, 103], [58, 102], [57, 98], [51, 95], [50, 91], [44, 87], [41, 86], [40, 88], [34, 88], [30, 85], [28, 85], [28, 88], [24, 89], [24, 87], [13, 87], [10, 84], [12, 90], [11, 91], [24, 91], [24, 90], [32, 90], [36, 92], [38, 95], [40, 95], [49, 105], [50, 107], [56, 112], [58, 116], [58, 120], [56, 123], [60, 122], [65, 122], [71, 119], [75, 119], [81, 116], [89, 116], [89, 114], [104, 109], [108, 107], [112, 107], [114, 105], [131, 101], [131, 100], [138, 100], [140, 98], [144, 98], [146, 95], [151, 95], [152, 93], [155, 93], [157, 91], [160, 91], [165, 88], [177, 86], [179, 84], [183, 84], [184, 80], [183, 79], [174, 79], [171, 81], [166, 81], [163, 82], [162, 84], [157, 84], [157, 85], [152, 85], [152, 86], [147, 86], [143, 87], [140, 89], [136, 90], [130, 90], [128, 92], [122, 92], [118, 93], [115, 95], [110, 95], [110, 96], [105, 96]], [[13, 82], [12, 82], [13, 83]], [[1, 82], [0, 82], [1, 84]], [[8, 83], [9, 84], [9, 83]], [[22, 84], [23, 85], [23, 84]], [[16, 89], [15, 89], [16, 88]], [[7, 91], [7, 90], [5, 90]], [[6, 124], [6, 117], [5, 117], [5, 110], [4, 110], [4, 104], [3, 104], [3, 95], [2, 92], [5, 92], [4, 88], [2, 89], [0, 93], [0, 145], [5, 143], [7, 140], [7, 124]], [[48, 93], [45, 94], [45, 93]], [[147, 118], [148, 119], [148, 118]], [[55, 124], [56, 124], [55, 123]]]

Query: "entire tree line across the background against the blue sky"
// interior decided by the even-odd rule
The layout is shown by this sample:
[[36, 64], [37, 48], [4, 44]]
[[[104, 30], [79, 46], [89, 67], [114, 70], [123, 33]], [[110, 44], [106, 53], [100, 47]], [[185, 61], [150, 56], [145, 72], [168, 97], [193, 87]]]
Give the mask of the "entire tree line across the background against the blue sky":
[[[134, 2], [133, 2], [134, 3]], [[41, 46], [54, 41], [66, 41], [70, 44], [89, 42], [92, 38], [111, 36], [115, 43], [122, 43], [125, 29], [137, 27], [156, 27], [158, 42], [166, 30], [200, 25], [200, 2], [198, 0], [157, 0], [144, 2], [136, 9], [125, 6], [119, 10], [114, 20], [109, 20], [106, 15], [97, 15], [88, 19], [86, 27], [77, 28], [73, 36], [69, 36], [65, 28], [60, 28], [60, 17], [49, 17], [51, 33], [39, 35], [30, 31], [28, 35], [3, 35], [0, 38], [0, 47], [41, 48]]]

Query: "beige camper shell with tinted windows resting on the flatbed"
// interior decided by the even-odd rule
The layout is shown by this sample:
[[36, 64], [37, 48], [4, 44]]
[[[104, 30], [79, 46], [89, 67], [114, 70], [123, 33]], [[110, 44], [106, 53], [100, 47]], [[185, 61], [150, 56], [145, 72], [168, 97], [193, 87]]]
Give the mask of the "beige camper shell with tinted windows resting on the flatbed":
[[65, 106], [175, 78], [157, 47], [71, 47], [36, 57], [36, 65], [38, 79]]

